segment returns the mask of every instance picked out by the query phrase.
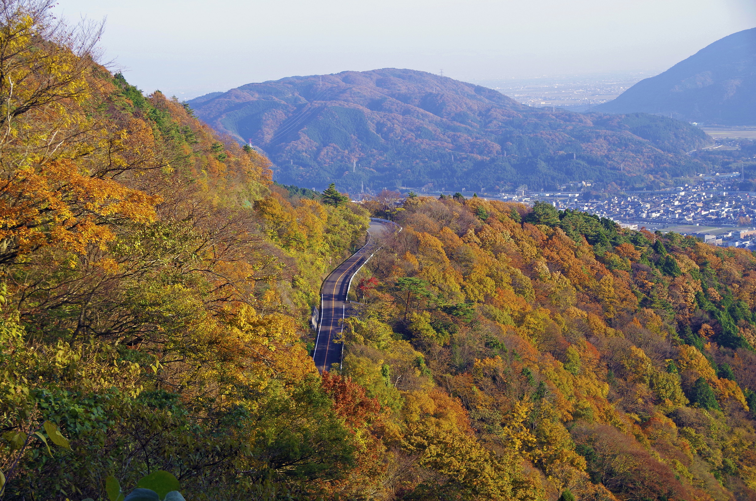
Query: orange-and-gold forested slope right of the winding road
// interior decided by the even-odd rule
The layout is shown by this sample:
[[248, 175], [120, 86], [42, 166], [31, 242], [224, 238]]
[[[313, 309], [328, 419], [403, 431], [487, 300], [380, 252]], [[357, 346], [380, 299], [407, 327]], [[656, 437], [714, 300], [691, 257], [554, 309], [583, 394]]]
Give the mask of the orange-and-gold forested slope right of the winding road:
[[756, 499], [753, 254], [541, 202], [371, 204], [404, 229], [343, 374], [414, 432], [409, 499]]

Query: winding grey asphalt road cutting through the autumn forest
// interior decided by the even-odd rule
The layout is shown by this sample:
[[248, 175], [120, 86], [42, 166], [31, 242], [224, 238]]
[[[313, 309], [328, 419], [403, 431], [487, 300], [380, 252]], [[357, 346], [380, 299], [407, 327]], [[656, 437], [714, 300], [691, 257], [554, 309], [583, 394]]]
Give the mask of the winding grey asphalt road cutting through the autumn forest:
[[346, 302], [349, 280], [370, 259], [370, 254], [375, 250], [376, 238], [384, 232], [393, 232], [396, 228], [397, 226], [391, 222], [371, 220], [370, 229], [367, 230], [369, 235], [367, 244], [330, 272], [324, 280], [321, 289], [321, 318], [318, 322], [318, 335], [315, 338], [315, 350], [312, 354], [318, 371], [327, 371], [333, 363], [341, 365], [344, 345], [335, 341], [342, 331], [339, 320], [349, 316], [349, 303]]

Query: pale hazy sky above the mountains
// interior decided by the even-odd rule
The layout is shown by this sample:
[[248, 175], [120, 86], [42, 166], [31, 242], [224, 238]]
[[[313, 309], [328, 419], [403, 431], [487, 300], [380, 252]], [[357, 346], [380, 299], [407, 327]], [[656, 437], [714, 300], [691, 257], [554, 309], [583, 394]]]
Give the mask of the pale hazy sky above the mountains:
[[104, 60], [179, 98], [383, 67], [461, 80], [662, 71], [756, 26], [754, 0], [60, 0], [57, 14], [107, 17]]

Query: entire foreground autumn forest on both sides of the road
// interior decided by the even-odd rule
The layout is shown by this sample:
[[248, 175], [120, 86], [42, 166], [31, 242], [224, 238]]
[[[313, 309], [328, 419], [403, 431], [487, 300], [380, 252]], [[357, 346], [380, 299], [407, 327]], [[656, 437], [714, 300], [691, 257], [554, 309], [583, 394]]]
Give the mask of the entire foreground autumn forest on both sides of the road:
[[[0, 21], [2, 499], [756, 498], [753, 254], [277, 185], [50, 5]], [[403, 229], [321, 375], [311, 309], [368, 216]]]

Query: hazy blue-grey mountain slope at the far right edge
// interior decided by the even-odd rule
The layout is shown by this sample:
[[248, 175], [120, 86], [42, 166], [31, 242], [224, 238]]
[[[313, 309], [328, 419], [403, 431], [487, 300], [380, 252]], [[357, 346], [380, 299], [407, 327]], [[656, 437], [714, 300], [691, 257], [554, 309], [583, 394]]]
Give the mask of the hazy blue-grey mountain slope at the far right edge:
[[717, 40], [594, 110], [756, 125], [756, 28]]

